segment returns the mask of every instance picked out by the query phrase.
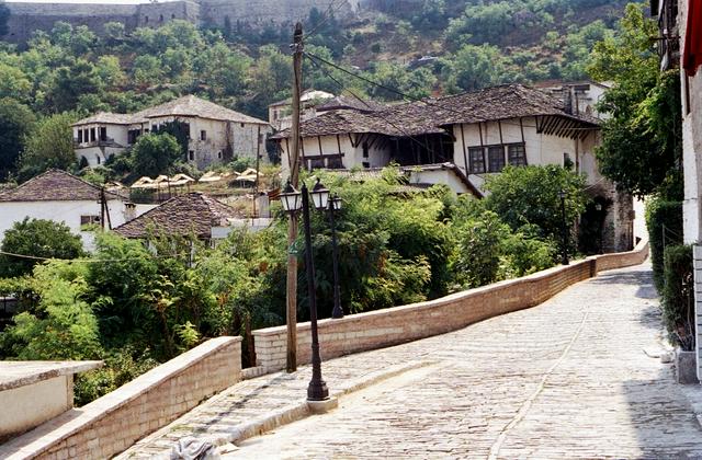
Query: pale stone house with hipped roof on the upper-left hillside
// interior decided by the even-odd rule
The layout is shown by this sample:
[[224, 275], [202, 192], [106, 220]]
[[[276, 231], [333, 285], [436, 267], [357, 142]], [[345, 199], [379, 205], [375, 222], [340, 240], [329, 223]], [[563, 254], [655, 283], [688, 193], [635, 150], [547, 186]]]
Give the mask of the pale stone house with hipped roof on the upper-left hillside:
[[256, 158], [265, 151], [264, 137], [271, 131], [267, 122], [186, 95], [135, 114], [101, 112], [75, 123], [76, 158], [90, 166], [102, 164], [143, 134], [174, 122], [188, 136], [188, 162], [200, 169], [227, 163], [235, 156]]

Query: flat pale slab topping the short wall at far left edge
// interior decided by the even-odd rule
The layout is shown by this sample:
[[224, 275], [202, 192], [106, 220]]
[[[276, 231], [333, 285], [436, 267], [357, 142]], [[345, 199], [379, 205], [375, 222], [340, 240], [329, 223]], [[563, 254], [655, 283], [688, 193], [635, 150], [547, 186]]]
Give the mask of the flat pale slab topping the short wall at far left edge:
[[104, 366], [103, 361], [0, 361], [0, 391]]

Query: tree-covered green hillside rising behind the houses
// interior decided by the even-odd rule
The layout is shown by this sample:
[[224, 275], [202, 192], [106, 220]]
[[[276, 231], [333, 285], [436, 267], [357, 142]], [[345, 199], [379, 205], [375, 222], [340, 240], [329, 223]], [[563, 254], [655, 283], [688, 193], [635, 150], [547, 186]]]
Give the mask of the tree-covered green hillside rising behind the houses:
[[[614, 33], [623, 11], [619, 0], [375, 3], [383, 11], [365, 9], [343, 23], [333, 8], [309, 11], [305, 87], [397, 101], [503, 82], [575, 81], [587, 78], [592, 45]], [[0, 11], [0, 30], [2, 19]], [[173, 20], [160, 28], [103, 28], [98, 35], [57, 22], [26, 49], [0, 42], [0, 176], [37, 137], [25, 137], [42, 125], [34, 122], [52, 114], [135, 112], [190, 93], [267, 118], [270, 103], [290, 96], [290, 27]]]

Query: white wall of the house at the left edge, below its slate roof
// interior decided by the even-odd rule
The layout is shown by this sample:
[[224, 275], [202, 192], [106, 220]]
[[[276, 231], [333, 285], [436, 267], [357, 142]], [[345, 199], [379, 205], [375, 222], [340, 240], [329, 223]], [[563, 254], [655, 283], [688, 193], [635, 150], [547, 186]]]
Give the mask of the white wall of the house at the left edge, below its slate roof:
[[[136, 205], [134, 217], [140, 216], [155, 205]], [[124, 202], [120, 199], [107, 200], [110, 209], [110, 221], [112, 228], [123, 225], [129, 217]], [[78, 234], [83, 240], [87, 250], [94, 249], [93, 234], [81, 231], [81, 217], [100, 217], [100, 204], [98, 200], [81, 202], [0, 202], [0, 241], [4, 238], [4, 232], [12, 228], [15, 222], [21, 222], [24, 218], [47, 219], [56, 222], [64, 222], [71, 232]]]

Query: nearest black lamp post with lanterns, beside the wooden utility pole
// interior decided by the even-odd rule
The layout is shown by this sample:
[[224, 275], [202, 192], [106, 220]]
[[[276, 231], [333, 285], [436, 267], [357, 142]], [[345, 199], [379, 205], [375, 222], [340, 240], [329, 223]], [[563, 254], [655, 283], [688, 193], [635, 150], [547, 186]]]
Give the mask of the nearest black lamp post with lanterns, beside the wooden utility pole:
[[[302, 193], [301, 193], [302, 192]], [[319, 337], [317, 333], [317, 297], [315, 289], [315, 266], [312, 255], [312, 229], [309, 223], [309, 198], [317, 209], [325, 209], [329, 203], [329, 191], [317, 181], [312, 193], [303, 183], [297, 192], [290, 183], [281, 194], [283, 209], [290, 214], [303, 211], [305, 231], [305, 266], [307, 267], [307, 289], [309, 297], [309, 321], [312, 329], [312, 380], [307, 387], [308, 401], [326, 401], [329, 399], [327, 383], [321, 379], [321, 357], [319, 356]], [[301, 196], [302, 195], [302, 196]], [[302, 197], [302, 200], [299, 199]]]

